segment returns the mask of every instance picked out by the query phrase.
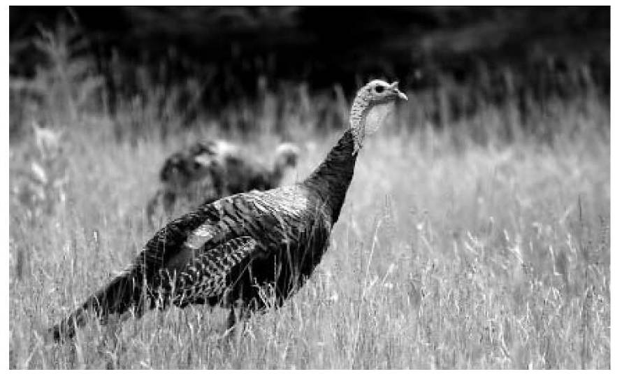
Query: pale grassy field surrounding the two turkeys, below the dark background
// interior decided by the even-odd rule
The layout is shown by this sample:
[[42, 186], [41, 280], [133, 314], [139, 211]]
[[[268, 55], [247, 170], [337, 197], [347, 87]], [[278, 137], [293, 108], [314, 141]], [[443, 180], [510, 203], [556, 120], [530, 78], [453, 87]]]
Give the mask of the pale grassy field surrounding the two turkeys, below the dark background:
[[[110, 118], [82, 119], [62, 139], [66, 180], [50, 182], [57, 161], [44, 163], [39, 202], [16, 197], [32, 141], [11, 143], [10, 367], [609, 368], [609, 104], [549, 101], [535, 131], [490, 106], [436, 129], [409, 94], [361, 151], [315, 275], [233, 338], [222, 337], [226, 312], [201, 306], [120, 329], [92, 321], [73, 344], [43, 331], [154, 233], [143, 207], [164, 157], [198, 136], [238, 134], [209, 127], [130, 145], [110, 136]], [[315, 131], [321, 103], [306, 99], [289, 129], [303, 154], [287, 183], [340, 134]], [[282, 140], [256, 139], [245, 143], [268, 158]]]

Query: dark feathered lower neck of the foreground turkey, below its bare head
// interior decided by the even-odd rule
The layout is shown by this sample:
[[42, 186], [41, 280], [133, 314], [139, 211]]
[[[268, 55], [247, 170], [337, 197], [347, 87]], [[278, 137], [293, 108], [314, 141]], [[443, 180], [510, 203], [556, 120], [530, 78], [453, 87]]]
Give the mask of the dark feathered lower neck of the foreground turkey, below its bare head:
[[314, 189], [332, 207], [333, 222], [345, 201], [345, 194], [354, 176], [357, 152], [354, 152], [354, 129], [347, 129], [326, 159], [310, 174], [303, 185]]

